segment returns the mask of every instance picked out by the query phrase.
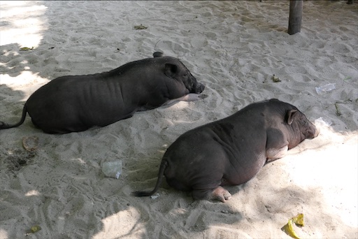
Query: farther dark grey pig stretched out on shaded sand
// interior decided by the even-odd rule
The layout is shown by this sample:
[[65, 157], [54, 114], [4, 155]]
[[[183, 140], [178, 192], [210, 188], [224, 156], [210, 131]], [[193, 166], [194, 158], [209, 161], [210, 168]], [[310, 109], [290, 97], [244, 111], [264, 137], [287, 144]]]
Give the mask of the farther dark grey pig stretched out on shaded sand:
[[204, 86], [181, 61], [160, 52], [154, 56], [108, 72], [56, 78], [29, 97], [19, 123], [0, 122], [0, 129], [19, 126], [29, 113], [34, 125], [46, 133], [85, 131], [126, 119], [138, 110], [201, 98]]

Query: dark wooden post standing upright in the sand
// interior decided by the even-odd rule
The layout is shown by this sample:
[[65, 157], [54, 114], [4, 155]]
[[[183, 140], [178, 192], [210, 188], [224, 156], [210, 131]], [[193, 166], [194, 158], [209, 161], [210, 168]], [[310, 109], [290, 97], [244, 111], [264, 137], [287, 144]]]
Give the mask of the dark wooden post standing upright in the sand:
[[288, 34], [301, 31], [303, 0], [289, 0]]

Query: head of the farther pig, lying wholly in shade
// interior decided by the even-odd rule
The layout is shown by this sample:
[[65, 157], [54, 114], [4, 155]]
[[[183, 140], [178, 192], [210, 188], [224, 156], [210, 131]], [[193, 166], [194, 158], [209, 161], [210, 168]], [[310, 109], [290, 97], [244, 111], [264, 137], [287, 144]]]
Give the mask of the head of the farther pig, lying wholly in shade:
[[196, 81], [196, 78], [194, 78], [192, 73], [190, 73], [190, 71], [182, 63], [165, 64], [165, 74], [170, 78], [175, 78], [176, 80], [181, 81], [187, 89], [187, 94], [200, 94], [205, 88], [203, 84]]

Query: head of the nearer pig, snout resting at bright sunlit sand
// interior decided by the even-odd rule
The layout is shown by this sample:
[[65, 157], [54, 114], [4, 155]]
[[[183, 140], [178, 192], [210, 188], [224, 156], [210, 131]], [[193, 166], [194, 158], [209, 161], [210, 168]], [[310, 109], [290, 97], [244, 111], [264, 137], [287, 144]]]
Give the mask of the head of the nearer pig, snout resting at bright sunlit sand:
[[287, 110], [285, 116], [285, 122], [288, 124], [291, 139], [288, 147], [292, 148], [301, 143], [306, 138], [315, 138], [318, 136], [319, 131], [315, 125], [312, 124], [301, 111], [297, 109]]

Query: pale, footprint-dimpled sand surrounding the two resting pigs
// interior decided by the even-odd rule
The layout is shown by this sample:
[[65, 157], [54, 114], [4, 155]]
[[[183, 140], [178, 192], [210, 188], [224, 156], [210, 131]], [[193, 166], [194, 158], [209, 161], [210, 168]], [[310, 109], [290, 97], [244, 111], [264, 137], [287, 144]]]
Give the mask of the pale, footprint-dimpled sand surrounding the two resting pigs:
[[[80, 133], [46, 134], [30, 117], [0, 131], [0, 238], [290, 238], [281, 229], [298, 213], [302, 238], [358, 238], [358, 2], [304, 1], [293, 36], [288, 13], [288, 1], [1, 1], [1, 121], [17, 122], [46, 82], [151, 57], [159, 40], [208, 98]], [[154, 187], [182, 133], [271, 98], [322, 117], [320, 136], [227, 187], [227, 203], [166, 183], [157, 198], [131, 196]], [[106, 161], [122, 161], [120, 178], [103, 175]]]

